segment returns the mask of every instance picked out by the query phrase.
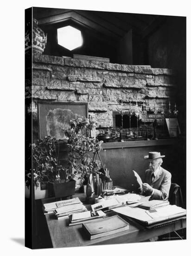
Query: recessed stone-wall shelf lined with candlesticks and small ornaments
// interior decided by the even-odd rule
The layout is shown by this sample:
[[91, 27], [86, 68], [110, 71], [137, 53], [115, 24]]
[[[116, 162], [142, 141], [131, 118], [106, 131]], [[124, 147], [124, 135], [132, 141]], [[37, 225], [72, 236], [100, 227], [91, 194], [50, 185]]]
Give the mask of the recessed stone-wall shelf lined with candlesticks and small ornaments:
[[129, 108], [123, 107], [113, 113], [114, 127], [99, 127], [97, 130], [97, 139], [106, 142], [123, 141], [150, 141], [164, 140], [179, 137], [181, 135], [178, 125], [178, 109], [176, 103], [174, 109], [171, 109], [171, 103], [161, 104], [158, 107], [146, 105], [143, 103], [134, 106], [131, 101]]

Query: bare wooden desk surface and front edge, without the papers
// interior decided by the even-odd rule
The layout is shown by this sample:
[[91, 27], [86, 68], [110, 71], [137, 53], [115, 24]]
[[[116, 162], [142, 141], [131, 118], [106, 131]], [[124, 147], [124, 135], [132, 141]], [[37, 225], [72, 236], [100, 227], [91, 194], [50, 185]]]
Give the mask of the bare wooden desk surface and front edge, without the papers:
[[[83, 202], [85, 200], [84, 194], [76, 194], [74, 197], [79, 197]], [[43, 203], [48, 202], [47, 199], [42, 200]], [[87, 209], [90, 206], [87, 205]], [[115, 215], [113, 211], [107, 212], [107, 216]], [[120, 232], [118, 234], [97, 238], [95, 240], [88, 240], [82, 230], [82, 224], [75, 226], [68, 226], [68, 217], [56, 219], [54, 215], [46, 215], [46, 221], [51, 236], [52, 246], [54, 248], [60, 247], [74, 247], [100, 244], [117, 244], [117, 243], [137, 243], [146, 241], [154, 236], [161, 236], [172, 231], [186, 227], [186, 219], [181, 219], [167, 223], [158, 228], [140, 229], [137, 225], [130, 223], [129, 230]]]

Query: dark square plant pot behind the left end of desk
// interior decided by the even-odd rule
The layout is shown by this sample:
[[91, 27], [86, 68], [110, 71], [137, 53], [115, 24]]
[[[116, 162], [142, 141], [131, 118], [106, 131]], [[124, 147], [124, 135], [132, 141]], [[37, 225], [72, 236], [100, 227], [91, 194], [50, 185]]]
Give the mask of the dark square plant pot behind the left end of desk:
[[75, 194], [75, 180], [70, 182], [52, 183], [48, 182], [48, 195], [49, 197], [66, 197]]

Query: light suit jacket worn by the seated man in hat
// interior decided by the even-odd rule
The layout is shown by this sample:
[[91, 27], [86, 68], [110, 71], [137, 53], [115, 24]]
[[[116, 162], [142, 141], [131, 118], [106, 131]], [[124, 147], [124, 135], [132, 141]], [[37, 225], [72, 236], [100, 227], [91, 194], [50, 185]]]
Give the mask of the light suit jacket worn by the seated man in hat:
[[159, 171], [152, 182], [152, 171], [146, 170], [146, 183], [148, 183], [154, 190], [151, 200], [166, 200], [169, 196], [171, 187], [171, 173], [159, 167]]

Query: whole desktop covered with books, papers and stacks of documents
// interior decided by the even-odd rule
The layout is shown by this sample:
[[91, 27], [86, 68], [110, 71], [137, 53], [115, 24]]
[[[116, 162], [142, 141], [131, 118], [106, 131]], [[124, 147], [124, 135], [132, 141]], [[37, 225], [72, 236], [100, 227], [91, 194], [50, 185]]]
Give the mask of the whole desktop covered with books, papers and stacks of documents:
[[42, 199], [52, 247], [135, 243], [185, 228], [185, 209], [149, 198], [113, 187], [94, 203], [85, 193]]

